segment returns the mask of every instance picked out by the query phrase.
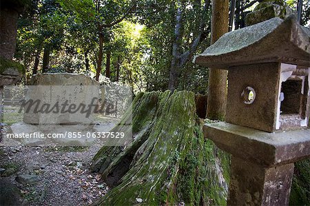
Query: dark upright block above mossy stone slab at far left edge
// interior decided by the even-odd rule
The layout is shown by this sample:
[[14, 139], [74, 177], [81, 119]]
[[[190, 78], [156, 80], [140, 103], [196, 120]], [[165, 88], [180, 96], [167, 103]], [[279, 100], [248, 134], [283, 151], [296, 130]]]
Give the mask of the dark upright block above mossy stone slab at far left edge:
[[0, 6], [0, 56], [12, 60], [16, 48], [18, 12], [14, 8]]

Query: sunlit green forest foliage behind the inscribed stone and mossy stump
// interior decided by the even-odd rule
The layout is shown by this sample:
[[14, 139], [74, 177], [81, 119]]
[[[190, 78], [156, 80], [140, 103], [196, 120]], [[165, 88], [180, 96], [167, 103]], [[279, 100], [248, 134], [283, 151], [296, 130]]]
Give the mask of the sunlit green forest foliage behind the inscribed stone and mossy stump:
[[[185, 1], [183, 4], [184, 52], [196, 36], [203, 3], [205, 1]], [[19, 20], [15, 57], [27, 65], [28, 76], [31, 76], [38, 55], [40, 72], [46, 48], [51, 51], [48, 72], [83, 72], [94, 76], [99, 35], [103, 35], [103, 53], [111, 52], [112, 56], [112, 81], [129, 84], [134, 92], [166, 90], [176, 8], [174, 1], [40, 0], [32, 17], [24, 15]], [[109, 25], [125, 14], [126, 18], [112, 27], [100, 26]], [[201, 43], [197, 53], [203, 51], [208, 42]], [[102, 73], [105, 61], [103, 55]], [[206, 91], [207, 70], [204, 68], [189, 62], [181, 76], [180, 89]]]

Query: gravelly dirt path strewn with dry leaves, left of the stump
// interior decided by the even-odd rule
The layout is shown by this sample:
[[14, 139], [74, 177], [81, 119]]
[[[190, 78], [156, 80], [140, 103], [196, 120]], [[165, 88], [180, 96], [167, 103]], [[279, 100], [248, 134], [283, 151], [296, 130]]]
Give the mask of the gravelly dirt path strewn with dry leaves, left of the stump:
[[17, 185], [29, 205], [89, 205], [108, 190], [88, 170], [100, 148], [0, 147], [1, 181]]

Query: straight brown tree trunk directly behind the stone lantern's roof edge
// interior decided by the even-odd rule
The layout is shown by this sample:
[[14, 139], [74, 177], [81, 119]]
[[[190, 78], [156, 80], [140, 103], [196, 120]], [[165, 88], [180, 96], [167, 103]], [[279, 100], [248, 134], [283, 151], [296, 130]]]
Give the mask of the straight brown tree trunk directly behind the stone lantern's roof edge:
[[[212, 3], [211, 44], [228, 32], [228, 0]], [[209, 69], [208, 119], [224, 119], [227, 98], [227, 70]]]

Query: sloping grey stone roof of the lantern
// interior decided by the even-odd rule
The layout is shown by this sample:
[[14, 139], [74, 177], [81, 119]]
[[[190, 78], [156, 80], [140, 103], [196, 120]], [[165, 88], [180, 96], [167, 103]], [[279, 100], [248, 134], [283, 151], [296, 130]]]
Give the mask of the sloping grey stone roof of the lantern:
[[194, 63], [205, 67], [229, 69], [256, 63], [290, 63], [310, 66], [310, 28], [294, 17], [278, 17], [224, 34]]

